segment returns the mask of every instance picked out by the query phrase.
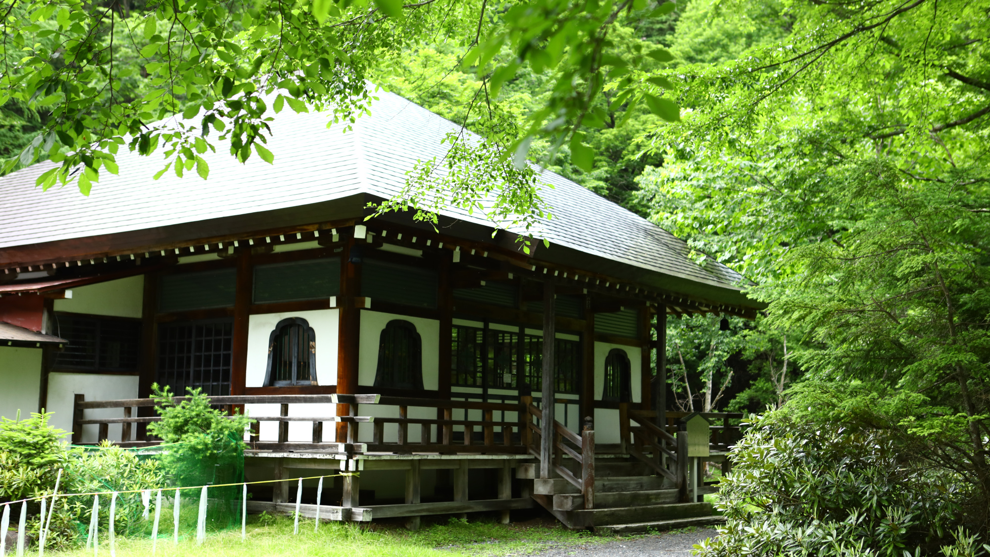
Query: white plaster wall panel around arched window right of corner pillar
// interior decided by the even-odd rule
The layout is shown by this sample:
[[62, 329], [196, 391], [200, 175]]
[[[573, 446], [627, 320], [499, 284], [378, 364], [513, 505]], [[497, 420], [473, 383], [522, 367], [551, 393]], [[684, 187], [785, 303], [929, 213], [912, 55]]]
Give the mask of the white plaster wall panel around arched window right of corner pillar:
[[392, 319], [403, 319], [416, 326], [416, 332], [423, 341], [423, 389], [437, 390], [440, 384], [440, 321], [369, 310], [361, 310], [357, 385], [374, 385], [374, 375], [378, 369], [378, 341], [381, 331]]

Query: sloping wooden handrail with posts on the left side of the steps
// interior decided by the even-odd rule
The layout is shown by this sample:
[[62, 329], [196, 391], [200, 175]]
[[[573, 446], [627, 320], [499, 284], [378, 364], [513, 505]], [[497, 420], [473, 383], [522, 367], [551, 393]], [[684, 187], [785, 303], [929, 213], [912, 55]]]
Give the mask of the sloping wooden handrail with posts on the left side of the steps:
[[[534, 423], [533, 418], [543, 423], [544, 412], [533, 404], [532, 396], [522, 396], [522, 405], [526, 407], [526, 426], [523, 429], [524, 445], [537, 460], [541, 459], [541, 444], [543, 429]], [[562, 423], [553, 421], [552, 470], [561, 478], [581, 491], [584, 497], [584, 507], [595, 507], [595, 431], [590, 418], [585, 418], [584, 429], [578, 435], [567, 429]], [[570, 445], [568, 445], [570, 443]], [[571, 446], [573, 445], [573, 447]], [[564, 455], [573, 459], [580, 470], [581, 477], [577, 478], [563, 466]]]

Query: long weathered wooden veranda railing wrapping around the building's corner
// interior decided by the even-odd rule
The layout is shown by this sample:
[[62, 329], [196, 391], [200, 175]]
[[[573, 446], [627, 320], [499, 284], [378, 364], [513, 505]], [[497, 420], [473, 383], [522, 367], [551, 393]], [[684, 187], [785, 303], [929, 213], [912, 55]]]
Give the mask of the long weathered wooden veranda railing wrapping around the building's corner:
[[[176, 396], [175, 402], [185, 397]], [[259, 450], [321, 450], [334, 452], [479, 452], [500, 454], [526, 454], [525, 445], [517, 445], [513, 432], [523, 431], [524, 417], [527, 415], [521, 404], [503, 402], [477, 402], [466, 400], [439, 400], [434, 398], [413, 398], [402, 396], [382, 396], [380, 394], [265, 394], [265, 395], [227, 395], [211, 396], [214, 406], [226, 408], [233, 413], [233, 408], [243, 404], [279, 404], [277, 416], [250, 416], [254, 419], [249, 433], [249, 445]], [[142, 446], [155, 445], [160, 441], [147, 435], [144, 438], [132, 439], [134, 424], [159, 421], [158, 416], [135, 416], [134, 408], [154, 406], [157, 403], [152, 398], [130, 398], [121, 400], [85, 400], [84, 395], [75, 395], [72, 421], [72, 442], [80, 443], [82, 426], [98, 425], [97, 442], [109, 437], [109, 426], [120, 423], [122, 427], [122, 445]], [[347, 404], [347, 415], [334, 416], [290, 416], [290, 404]], [[398, 407], [398, 417], [374, 417], [358, 415], [359, 404], [388, 405]], [[411, 418], [410, 407], [426, 407], [435, 409], [438, 418]], [[123, 408], [123, 416], [110, 418], [83, 418], [83, 411], [97, 408]], [[453, 410], [463, 409], [464, 419], [453, 419]], [[477, 410], [481, 413], [480, 420], [466, 419], [466, 412]], [[496, 411], [519, 412], [520, 421], [495, 421]], [[276, 422], [278, 434], [276, 441], [261, 441], [259, 424], [261, 422]], [[290, 442], [289, 423], [310, 422], [313, 427], [312, 442]], [[340, 433], [334, 435], [334, 442], [324, 442], [324, 424], [331, 422], [342, 424], [334, 428]], [[361, 424], [371, 424], [372, 434], [370, 443], [359, 442], [359, 427]], [[396, 442], [385, 442], [386, 425], [395, 425]], [[420, 426], [420, 441], [413, 443], [409, 436], [409, 426]], [[434, 435], [436, 427], [436, 436]], [[475, 428], [481, 431], [480, 442], [475, 442]], [[454, 442], [455, 429], [463, 432], [460, 443]], [[496, 431], [496, 429], [498, 431]], [[501, 436], [501, 444], [496, 444], [496, 438]], [[436, 439], [435, 439], [436, 437]]]

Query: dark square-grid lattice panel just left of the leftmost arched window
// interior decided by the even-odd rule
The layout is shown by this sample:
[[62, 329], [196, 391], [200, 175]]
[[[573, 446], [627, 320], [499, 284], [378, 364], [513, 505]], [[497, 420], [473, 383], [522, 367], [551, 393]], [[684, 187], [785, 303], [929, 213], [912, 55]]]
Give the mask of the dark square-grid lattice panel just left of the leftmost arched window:
[[159, 325], [158, 385], [176, 394], [189, 387], [230, 394], [233, 329], [230, 319]]

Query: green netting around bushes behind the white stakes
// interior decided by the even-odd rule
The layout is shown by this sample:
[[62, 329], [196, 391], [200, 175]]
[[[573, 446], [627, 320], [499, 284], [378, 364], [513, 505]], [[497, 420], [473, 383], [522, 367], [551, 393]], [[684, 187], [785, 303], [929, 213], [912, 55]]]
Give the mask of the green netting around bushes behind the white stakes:
[[[120, 447], [77, 447], [70, 465], [76, 477], [77, 493], [99, 497], [97, 530], [102, 539], [110, 526], [110, 494], [116, 496], [114, 532], [117, 536], [150, 535], [158, 493], [158, 537], [195, 537], [200, 519], [202, 490], [205, 500], [206, 532], [241, 526], [244, 482], [244, 452], [238, 444], [223, 453], [203, 457], [182, 450], [182, 443], [124, 449]], [[232, 485], [233, 484], [233, 485]], [[79, 490], [78, 487], [85, 487]], [[176, 490], [178, 488], [178, 490]], [[178, 495], [176, 495], [178, 492]], [[93, 495], [67, 498], [76, 517], [76, 529], [83, 537], [90, 527]], [[177, 506], [177, 508], [176, 508]], [[177, 512], [176, 512], [177, 510]]]

